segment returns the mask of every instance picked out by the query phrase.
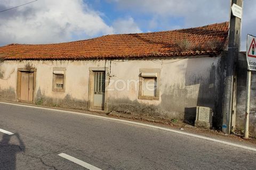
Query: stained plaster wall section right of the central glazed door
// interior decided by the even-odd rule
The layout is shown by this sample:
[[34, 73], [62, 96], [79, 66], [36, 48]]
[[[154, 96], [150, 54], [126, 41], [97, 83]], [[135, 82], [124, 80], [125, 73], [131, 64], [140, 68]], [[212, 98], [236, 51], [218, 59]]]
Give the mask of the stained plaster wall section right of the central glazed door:
[[[224, 68], [221, 68], [221, 62], [221, 57], [163, 60], [163, 64], [161, 60], [132, 60], [124, 63], [112, 61], [111, 75], [114, 76], [111, 80], [138, 80], [140, 68], [160, 68], [161, 87], [158, 101], [138, 99], [138, 84], [131, 84], [130, 90], [110, 91], [108, 110], [169, 119], [187, 119], [193, 123], [196, 106], [206, 106], [213, 108], [214, 124], [220, 127], [221, 92], [224, 87]], [[114, 84], [109, 88], [114, 89]], [[122, 89], [122, 86], [119, 88]]]

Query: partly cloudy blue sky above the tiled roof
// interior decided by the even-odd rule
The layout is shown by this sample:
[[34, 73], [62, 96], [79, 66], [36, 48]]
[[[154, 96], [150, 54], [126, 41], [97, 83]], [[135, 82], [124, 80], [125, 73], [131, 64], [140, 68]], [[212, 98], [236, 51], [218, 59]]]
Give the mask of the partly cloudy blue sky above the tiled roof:
[[[0, 11], [33, 0], [1, 0]], [[256, 0], [244, 0], [241, 50], [256, 35]], [[230, 0], [37, 0], [0, 13], [0, 46], [147, 33], [229, 21]]]

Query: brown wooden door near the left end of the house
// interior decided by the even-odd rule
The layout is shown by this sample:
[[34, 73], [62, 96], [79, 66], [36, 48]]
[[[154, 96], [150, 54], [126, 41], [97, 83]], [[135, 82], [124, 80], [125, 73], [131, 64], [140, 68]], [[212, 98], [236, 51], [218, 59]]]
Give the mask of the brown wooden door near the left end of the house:
[[20, 99], [33, 101], [34, 72], [21, 72]]

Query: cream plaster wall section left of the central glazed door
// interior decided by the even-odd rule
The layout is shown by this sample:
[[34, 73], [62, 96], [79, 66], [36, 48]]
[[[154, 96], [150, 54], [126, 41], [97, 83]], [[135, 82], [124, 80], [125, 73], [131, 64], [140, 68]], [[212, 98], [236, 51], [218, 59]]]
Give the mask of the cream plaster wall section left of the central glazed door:
[[[74, 109], [87, 109], [89, 67], [97, 67], [96, 61], [4, 61], [0, 65], [0, 100], [17, 99], [17, 70], [29, 63], [36, 72], [35, 103]], [[100, 61], [104, 62], [104, 61]], [[53, 68], [66, 68], [66, 92], [52, 91]], [[14, 72], [12, 72], [14, 70]], [[6, 91], [12, 89], [12, 98]], [[5, 96], [5, 97], [3, 97]]]

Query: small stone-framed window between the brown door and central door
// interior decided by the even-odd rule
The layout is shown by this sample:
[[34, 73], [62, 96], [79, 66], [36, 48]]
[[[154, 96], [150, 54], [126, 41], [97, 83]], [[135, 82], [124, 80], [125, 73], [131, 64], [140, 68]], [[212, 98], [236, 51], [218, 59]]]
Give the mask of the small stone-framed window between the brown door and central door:
[[65, 92], [65, 68], [53, 68], [52, 91]]

